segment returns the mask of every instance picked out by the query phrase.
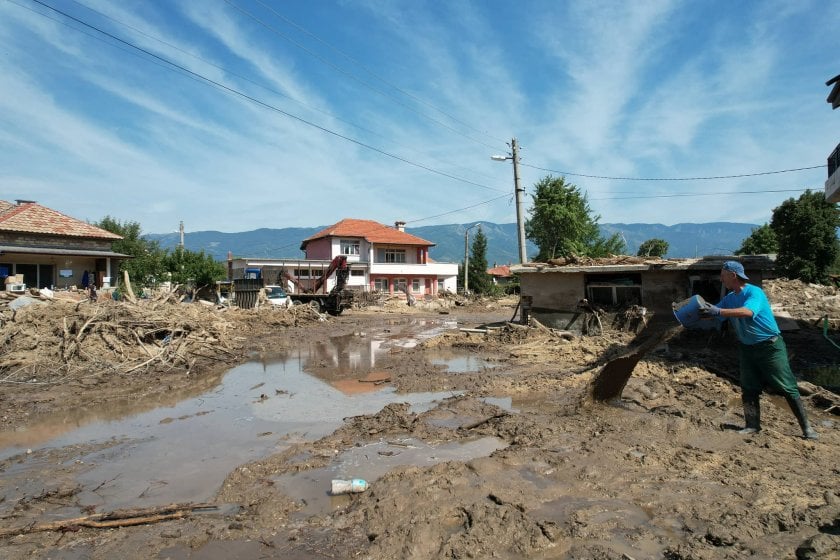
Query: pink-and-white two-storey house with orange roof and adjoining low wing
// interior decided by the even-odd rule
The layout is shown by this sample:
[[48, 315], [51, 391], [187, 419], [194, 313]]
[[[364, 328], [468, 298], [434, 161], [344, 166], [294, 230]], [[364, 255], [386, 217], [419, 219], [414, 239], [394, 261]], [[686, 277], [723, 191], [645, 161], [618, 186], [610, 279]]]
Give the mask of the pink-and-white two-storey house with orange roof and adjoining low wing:
[[[363, 292], [411, 293], [435, 296], [456, 290], [458, 265], [435, 262], [429, 251], [434, 243], [405, 231], [403, 222], [386, 226], [372, 220], [346, 218], [304, 239], [304, 259], [229, 260], [231, 279], [257, 274], [290, 291], [312, 290], [329, 272], [338, 256], [347, 258], [347, 288]], [[319, 291], [335, 286], [335, 275]]]

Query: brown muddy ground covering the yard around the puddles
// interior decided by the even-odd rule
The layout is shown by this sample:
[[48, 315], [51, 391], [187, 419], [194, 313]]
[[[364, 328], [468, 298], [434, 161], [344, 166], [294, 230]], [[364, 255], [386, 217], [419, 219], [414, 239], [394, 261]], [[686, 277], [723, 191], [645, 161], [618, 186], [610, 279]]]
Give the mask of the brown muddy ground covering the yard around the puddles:
[[[830, 372], [840, 363], [840, 349], [824, 336], [817, 319], [832, 312], [837, 317], [836, 293], [795, 283], [779, 283], [768, 293], [782, 307], [787, 303], [784, 311], [793, 318], [789, 326], [796, 330], [786, 332], [785, 339], [794, 371]], [[206, 306], [199, 323], [206, 327], [211, 317], [224, 324], [209, 335], [201, 332], [201, 340], [209, 336], [211, 346], [223, 346], [221, 355], [198, 352], [204, 357], [183, 363], [173, 358], [129, 373], [103, 369], [102, 363], [117, 361], [114, 356], [88, 356], [85, 367], [74, 362], [52, 373], [27, 370], [21, 375], [15, 373], [20, 364], [17, 370], [6, 367], [0, 375], [0, 441], [9, 445], [16, 433], [37, 425], [47, 413], [80, 407], [94, 411], [98, 403], [119, 399], [137, 407], [177, 400], [198, 384], [212, 387], [236, 363], [295, 340], [358, 335], [384, 324], [399, 325], [406, 314], [457, 320], [459, 327], [481, 330], [503, 325], [514, 303], [440, 309], [389, 305], [325, 320]], [[65, 309], [62, 316], [69, 313]], [[0, 330], [7, 356], [18, 351], [11, 329], [21, 322], [49, 322], [47, 316], [26, 319], [25, 310], [14, 320], [9, 317]], [[53, 346], [72, 338], [64, 324], [49, 330], [57, 337]], [[682, 331], [639, 363], [620, 403], [593, 403], [588, 398], [593, 375], [635, 336], [605, 324], [601, 336], [572, 340], [508, 327], [486, 333], [448, 330], [414, 348], [392, 348], [377, 369], [399, 392], [449, 391], [452, 396], [425, 412], [392, 404], [376, 414], [347, 418], [331, 435], [242, 464], [204, 504], [218, 508], [187, 508], [174, 519], [114, 528], [78, 523], [33, 532], [38, 524], [103, 512], [84, 506], [80, 496], [95, 489], [80, 488], [75, 481], [84, 465], [74, 458], [88, 448], [20, 453], [0, 463], [0, 556], [840, 558], [836, 394], [802, 384], [819, 441], [802, 439], [784, 400], [772, 395], [762, 397], [762, 432], [740, 435], [743, 416], [733, 381], [737, 348], [732, 337]], [[840, 341], [837, 331], [828, 335]], [[110, 337], [112, 352], [121, 354], [121, 364], [142, 363], [116, 338]], [[30, 353], [49, 354], [36, 341], [30, 347]], [[496, 367], [453, 374], [425, 358], [441, 348], [474, 353]], [[93, 351], [93, 346], [83, 349], [77, 358]], [[501, 408], [489, 404], [494, 401], [488, 397], [510, 398], [512, 405]], [[380, 451], [367, 458], [375, 463], [400, 453], [397, 442], [406, 438], [441, 445], [486, 437], [499, 438], [502, 448], [467, 461], [395, 467], [372, 480], [367, 491], [343, 496], [330, 513], [307, 514], [307, 504], [278, 482], [323, 469], [341, 453], [365, 446], [379, 446], [371, 447]], [[37, 475], [16, 476], [17, 467], [31, 461], [40, 465]]]

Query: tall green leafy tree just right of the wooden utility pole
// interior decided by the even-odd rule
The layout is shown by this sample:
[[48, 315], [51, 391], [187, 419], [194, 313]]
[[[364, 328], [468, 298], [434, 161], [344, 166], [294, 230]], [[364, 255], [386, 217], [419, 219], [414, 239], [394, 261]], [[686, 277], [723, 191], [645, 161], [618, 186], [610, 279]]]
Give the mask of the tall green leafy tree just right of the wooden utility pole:
[[618, 233], [609, 238], [601, 236], [601, 217], [592, 214], [586, 195], [575, 185], [567, 184], [564, 177], [548, 175], [534, 188], [525, 234], [539, 248], [535, 260], [574, 255], [603, 257], [624, 251]]

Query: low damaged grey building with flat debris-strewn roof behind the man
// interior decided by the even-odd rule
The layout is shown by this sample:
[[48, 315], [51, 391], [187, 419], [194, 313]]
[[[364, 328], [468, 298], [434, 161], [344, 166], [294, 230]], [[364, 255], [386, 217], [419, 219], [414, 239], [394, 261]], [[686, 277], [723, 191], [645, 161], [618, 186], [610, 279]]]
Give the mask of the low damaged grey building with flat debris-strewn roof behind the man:
[[511, 267], [521, 284], [523, 307], [543, 324], [567, 328], [580, 314], [582, 300], [605, 310], [639, 305], [654, 313], [671, 313], [673, 302], [692, 295], [717, 302], [723, 295], [720, 269], [738, 260], [750, 282], [773, 278], [774, 260], [767, 255], [660, 259], [617, 256], [603, 259], [553, 259]]

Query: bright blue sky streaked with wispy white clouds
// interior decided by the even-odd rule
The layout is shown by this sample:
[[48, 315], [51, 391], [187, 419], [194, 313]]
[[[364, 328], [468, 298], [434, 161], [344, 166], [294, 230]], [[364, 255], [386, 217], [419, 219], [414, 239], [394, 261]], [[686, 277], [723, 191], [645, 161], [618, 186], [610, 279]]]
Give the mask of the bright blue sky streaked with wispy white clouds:
[[823, 0], [0, 0], [0, 199], [146, 233], [510, 223], [516, 137], [526, 209], [565, 173], [602, 223], [761, 224], [823, 189], [838, 31]]

